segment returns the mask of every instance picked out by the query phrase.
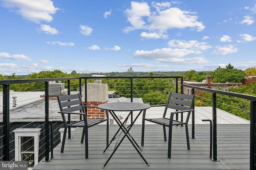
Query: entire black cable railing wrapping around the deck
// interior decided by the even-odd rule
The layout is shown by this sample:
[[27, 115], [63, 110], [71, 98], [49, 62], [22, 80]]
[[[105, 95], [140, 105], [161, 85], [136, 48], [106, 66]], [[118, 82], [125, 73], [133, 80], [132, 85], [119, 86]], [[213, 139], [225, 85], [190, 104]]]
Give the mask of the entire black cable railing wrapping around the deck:
[[[15, 154], [15, 150], [19, 149], [19, 146], [14, 145], [16, 140], [14, 137], [15, 129], [40, 129], [38, 140], [38, 149], [33, 152], [38, 152], [34, 160], [38, 159], [44, 161], [50, 161], [54, 156], [53, 148], [58, 145], [62, 139], [60, 129], [63, 127], [62, 117], [58, 113], [59, 106], [56, 102], [56, 96], [54, 93], [51, 95], [49, 92], [53, 92], [49, 86], [49, 82], [61, 82], [64, 83], [63, 94], [68, 95], [73, 93], [80, 93], [82, 96], [85, 96], [85, 101], [87, 101], [87, 84], [94, 83], [95, 79], [102, 79], [102, 84], [108, 84], [108, 91], [115, 92], [116, 97], [129, 98], [131, 102], [135, 101], [136, 98], [141, 98], [144, 103], [150, 105], [157, 104], [166, 104], [166, 98], [168, 92], [177, 92], [183, 93], [188, 92], [184, 88], [190, 88], [190, 94], [196, 94], [195, 98], [195, 111], [192, 116], [190, 116], [189, 124], [192, 128], [190, 133], [192, 134], [192, 139], [199, 137], [200, 133], [196, 131], [196, 125], [204, 124], [206, 128], [209, 128], [209, 123], [202, 122], [202, 119], [211, 119], [212, 121], [212, 130], [213, 130], [213, 156], [212, 160], [217, 161], [221, 160], [230, 161], [230, 158], [233, 157], [232, 152], [226, 152], [227, 147], [229, 150], [234, 151], [236, 154], [241, 154], [239, 150], [235, 150], [234, 142], [236, 145], [240, 146], [240, 149], [248, 149], [247, 144], [243, 144], [240, 141], [234, 141], [228, 143], [225, 139], [222, 139], [223, 136], [228, 133], [223, 131], [226, 129], [232, 133], [235, 133], [233, 127], [238, 129], [243, 129], [248, 133], [254, 133], [254, 127], [249, 127], [234, 124], [229, 119], [224, 119], [223, 108], [229, 106], [228, 103], [222, 102], [230, 100], [233, 103], [244, 102], [244, 106], [232, 106], [230, 110], [237, 109], [241, 115], [250, 115], [251, 122], [256, 122], [255, 116], [256, 113], [256, 97], [243, 94], [235, 94], [230, 92], [224, 92], [221, 90], [212, 90], [206, 88], [200, 88], [196, 86], [184, 85], [183, 78], [181, 76], [148, 76], [148, 77], [72, 77], [72, 78], [45, 78], [45, 79], [22, 79], [22, 80], [0, 80], [0, 84], [3, 86], [3, 92], [0, 93], [0, 98], [2, 98], [3, 104], [0, 105], [0, 142], [3, 144], [0, 146], [0, 160], [17, 160], [21, 157], [20, 155]], [[29, 86], [29, 84], [36, 85], [37, 89], [32, 89], [26, 92], [15, 92], [10, 90], [10, 86], [13, 84], [23, 84]], [[37, 96], [29, 95], [28, 92], [38, 93]], [[204, 94], [204, 95], [200, 95]], [[18, 96], [16, 100], [16, 107], [13, 107], [12, 96]], [[20, 96], [26, 96], [24, 100]], [[22, 100], [21, 100], [22, 99]], [[85, 102], [86, 103], [86, 102]], [[249, 108], [248, 108], [249, 106]], [[209, 109], [210, 108], [210, 109]], [[231, 112], [227, 110], [226, 112]], [[159, 110], [160, 111], [160, 110]], [[252, 114], [253, 113], [253, 114]], [[223, 115], [222, 115], [223, 114]], [[207, 115], [207, 116], [206, 116]], [[186, 117], [186, 114], [183, 115]], [[193, 117], [194, 116], [194, 117]], [[81, 117], [67, 117], [67, 119], [81, 119]], [[254, 120], [255, 119], [255, 120]], [[225, 122], [223, 124], [222, 122]], [[233, 125], [233, 127], [232, 127]], [[255, 125], [255, 123], [254, 123]], [[7, 133], [8, 132], [8, 133]], [[29, 132], [24, 132], [23, 135], [28, 135]], [[256, 133], [254, 133], [255, 135]], [[210, 135], [210, 134], [207, 134]], [[253, 136], [253, 135], [252, 135]], [[252, 136], [245, 135], [240, 136], [244, 141], [251, 141], [256, 143]], [[200, 139], [199, 139], [200, 140]], [[203, 145], [210, 150], [209, 145], [202, 141]], [[218, 145], [217, 145], [218, 144]], [[34, 143], [37, 145], [37, 143]], [[225, 146], [224, 146], [225, 145]], [[217, 149], [218, 146], [218, 149]], [[218, 155], [217, 155], [218, 150]], [[248, 158], [245, 154], [241, 154], [242, 159], [249, 159], [250, 166], [254, 166], [254, 155], [256, 149], [254, 147], [250, 150], [250, 155], [252, 158]], [[22, 155], [26, 153], [26, 150], [23, 150]], [[227, 153], [227, 154], [225, 154]], [[51, 155], [50, 155], [51, 154]], [[227, 157], [228, 155], [228, 157]], [[23, 158], [24, 160], [24, 158]], [[38, 162], [37, 161], [37, 162]], [[33, 161], [31, 164], [35, 165], [37, 163]], [[236, 163], [231, 163], [234, 167], [239, 169], [239, 166], [243, 165], [243, 162], [238, 160]]]

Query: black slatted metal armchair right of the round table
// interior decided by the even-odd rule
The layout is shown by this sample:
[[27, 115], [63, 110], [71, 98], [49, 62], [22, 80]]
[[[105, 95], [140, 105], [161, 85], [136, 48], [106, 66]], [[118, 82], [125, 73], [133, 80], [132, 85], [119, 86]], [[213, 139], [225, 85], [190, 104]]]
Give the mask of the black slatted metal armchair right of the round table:
[[[186, 128], [186, 138], [187, 138], [187, 146], [188, 150], [190, 150], [189, 136], [188, 136], [188, 119], [190, 117], [191, 111], [194, 105], [194, 95], [187, 94], [178, 94], [178, 93], [169, 93], [168, 100], [166, 105], [155, 105], [155, 106], [165, 106], [164, 115], [162, 118], [155, 119], [146, 119], [145, 113], [143, 114], [142, 119], [142, 138], [141, 138], [141, 146], [144, 146], [144, 129], [145, 129], [145, 121], [150, 121], [152, 123], [156, 123], [162, 125], [164, 127], [164, 141], [166, 141], [166, 127], [169, 127], [169, 137], [168, 137], [168, 158], [171, 158], [171, 147], [172, 147], [172, 126], [173, 125], [185, 125]], [[151, 106], [151, 107], [155, 107]], [[176, 111], [172, 111], [170, 113], [170, 119], [166, 118], [166, 112], [168, 108], [175, 109]], [[187, 112], [186, 121], [183, 122], [183, 113]], [[182, 113], [181, 121], [178, 119], [174, 120], [174, 114], [178, 117], [178, 113]]]

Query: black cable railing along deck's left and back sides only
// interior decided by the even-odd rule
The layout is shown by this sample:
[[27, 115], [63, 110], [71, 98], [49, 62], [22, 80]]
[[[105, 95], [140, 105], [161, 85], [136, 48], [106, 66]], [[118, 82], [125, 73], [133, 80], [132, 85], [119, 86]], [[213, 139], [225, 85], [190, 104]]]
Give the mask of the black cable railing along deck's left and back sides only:
[[[96, 77], [73, 77], [0, 80], [0, 84], [3, 86], [3, 92], [0, 92], [0, 98], [2, 99], [2, 105], [0, 105], [0, 113], [2, 112], [0, 114], [0, 120], [2, 120], [2, 122], [0, 122], [0, 142], [3, 144], [0, 146], [0, 160], [28, 160], [29, 167], [33, 167], [40, 160], [50, 161], [54, 154], [53, 148], [58, 145], [62, 139], [60, 129], [63, 127], [63, 122], [62, 117], [57, 113], [59, 108], [58, 102], [56, 102], [56, 96], [60, 94], [55, 93], [56, 87], [53, 85], [50, 86], [49, 84], [57, 82], [57, 84], [60, 83], [61, 86], [63, 85], [61, 95], [72, 93], [82, 94], [84, 91], [83, 88], [87, 89], [87, 83], [94, 83], [95, 78]], [[150, 86], [150, 83], [152, 83], [155, 78], [108, 77], [104, 79], [102, 83], [110, 84], [108, 90], [115, 91], [120, 97], [130, 98], [131, 102], [134, 98], [143, 98], [143, 100], [146, 101], [156, 95], [148, 94], [150, 90], [159, 91], [163, 94], [171, 90], [166, 89], [165, 92], [162, 90], [168, 88], [165, 82], [167, 79], [172, 80], [170, 81], [172, 83], [171, 86], [174, 87], [172, 91], [176, 92], [173, 82], [174, 80], [178, 82], [178, 78], [182, 77], [157, 77], [157, 79], [165, 79], [165, 84], [161, 85], [163, 81], [155, 81], [154, 84]], [[118, 80], [118, 82], [115, 82], [116, 80]], [[137, 86], [138, 82], [136, 81], [139, 80], [146, 80], [147, 85], [140, 83], [141, 85]], [[156, 83], [159, 86], [158, 89], [156, 89]], [[18, 89], [14, 86], [15, 84], [18, 84], [18, 88], [22, 87], [21, 89], [23, 89], [23, 91], [15, 91], [15, 89]], [[34, 88], [32, 89], [32, 87]], [[59, 91], [57, 90], [57, 92]], [[86, 91], [83, 95], [86, 96]], [[150, 95], [151, 97], [148, 97]], [[159, 95], [157, 96], [158, 98], [154, 100], [163, 100], [163, 98], [159, 98]], [[81, 119], [81, 117], [68, 117], [68, 119]], [[35, 129], [38, 130], [38, 134], [31, 136]], [[17, 135], [19, 136], [16, 137]], [[26, 139], [26, 137], [31, 138], [22, 143], [20, 140], [23, 138]], [[38, 140], [36, 142], [32, 140], [37, 138]], [[23, 145], [30, 145], [30, 147], [24, 149], [24, 147], [22, 147]]]

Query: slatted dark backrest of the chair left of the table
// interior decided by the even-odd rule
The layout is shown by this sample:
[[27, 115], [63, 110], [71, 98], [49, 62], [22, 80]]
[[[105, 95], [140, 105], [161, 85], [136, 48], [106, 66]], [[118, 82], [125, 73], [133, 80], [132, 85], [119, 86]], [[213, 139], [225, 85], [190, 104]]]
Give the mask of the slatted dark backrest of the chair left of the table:
[[57, 96], [57, 98], [60, 111], [73, 112], [82, 110], [82, 112], [85, 113], [80, 93], [66, 96]]

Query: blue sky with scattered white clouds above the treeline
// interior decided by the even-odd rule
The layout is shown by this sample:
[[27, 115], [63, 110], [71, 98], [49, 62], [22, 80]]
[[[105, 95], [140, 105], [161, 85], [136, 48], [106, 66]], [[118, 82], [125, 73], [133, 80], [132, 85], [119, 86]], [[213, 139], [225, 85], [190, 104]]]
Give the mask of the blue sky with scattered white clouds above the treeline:
[[0, 74], [256, 66], [256, 0], [0, 0]]

